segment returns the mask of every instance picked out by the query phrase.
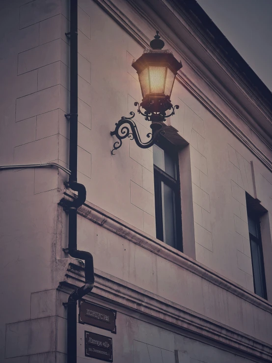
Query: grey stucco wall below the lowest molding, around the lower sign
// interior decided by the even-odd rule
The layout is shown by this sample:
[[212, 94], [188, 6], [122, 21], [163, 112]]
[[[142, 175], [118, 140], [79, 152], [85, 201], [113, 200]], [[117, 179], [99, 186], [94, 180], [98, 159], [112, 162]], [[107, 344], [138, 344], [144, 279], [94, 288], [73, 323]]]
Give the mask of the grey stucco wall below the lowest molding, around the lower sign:
[[[109, 332], [107, 334], [112, 337], [113, 361], [118, 359], [118, 363], [176, 363], [175, 350], [178, 362], [182, 363], [253, 362], [189, 337], [147, 324], [123, 313], [117, 313], [116, 322], [119, 327], [122, 327], [122, 335], [117, 339], [116, 335]], [[89, 327], [78, 324], [79, 336], [83, 336], [86, 329], [96, 334], [105, 334], [102, 329], [96, 327], [89, 329]], [[79, 339], [79, 342], [82, 343], [83, 338]], [[83, 344], [79, 344], [78, 357], [80, 363], [87, 361], [86, 358], [84, 359]]]

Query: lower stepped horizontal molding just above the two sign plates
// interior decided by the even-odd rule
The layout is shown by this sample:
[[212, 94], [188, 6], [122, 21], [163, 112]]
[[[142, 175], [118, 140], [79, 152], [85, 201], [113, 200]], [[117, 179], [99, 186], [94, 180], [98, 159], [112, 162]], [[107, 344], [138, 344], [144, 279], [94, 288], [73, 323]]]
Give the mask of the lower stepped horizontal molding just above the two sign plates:
[[[72, 289], [84, 284], [84, 273], [80, 261], [74, 260], [67, 269], [65, 280], [59, 285], [59, 290], [70, 293]], [[211, 340], [223, 345], [224, 350], [244, 352], [245, 356], [252, 356], [259, 362], [272, 362], [272, 346], [252, 336], [246, 335], [212, 319], [152, 294], [121, 279], [95, 270], [95, 285], [90, 294], [84, 297], [89, 301], [101, 302], [101, 299], [114, 304], [118, 311], [127, 315], [134, 315], [140, 320], [152, 319], [156, 325], [164, 323], [166, 329], [192, 336], [201, 340]], [[120, 311], [120, 310], [119, 310]], [[171, 327], [171, 328], [170, 328]], [[260, 359], [260, 360], [259, 360]]]

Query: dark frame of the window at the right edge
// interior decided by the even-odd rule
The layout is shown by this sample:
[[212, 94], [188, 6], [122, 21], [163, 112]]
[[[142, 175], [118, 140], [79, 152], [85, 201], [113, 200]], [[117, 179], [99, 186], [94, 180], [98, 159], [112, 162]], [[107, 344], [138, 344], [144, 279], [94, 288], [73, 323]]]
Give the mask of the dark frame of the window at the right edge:
[[262, 236], [261, 236], [261, 223], [260, 223], [259, 216], [254, 214], [254, 213], [250, 213], [250, 212], [247, 213], [247, 217], [250, 218], [254, 223], [256, 223], [256, 229], [257, 229], [256, 232], [257, 232], [257, 236], [258, 236], [258, 237], [255, 237], [252, 233], [249, 232], [249, 229], [248, 229], [254, 293], [256, 294], [256, 284], [255, 284], [255, 276], [254, 276], [254, 266], [253, 266], [253, 258], [252, 258], [251, 240], [253, 240], [259, 247], [260, 273], [261, 273], [262, 289], [263, 289], [264, 296], [260, 296], [258, 294], [256, 294], [256, 295], [258, 295], [261, 298], [267, 300], [267, 287], [266, 287], [263, 244], [262, 244]]

